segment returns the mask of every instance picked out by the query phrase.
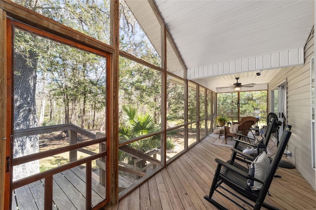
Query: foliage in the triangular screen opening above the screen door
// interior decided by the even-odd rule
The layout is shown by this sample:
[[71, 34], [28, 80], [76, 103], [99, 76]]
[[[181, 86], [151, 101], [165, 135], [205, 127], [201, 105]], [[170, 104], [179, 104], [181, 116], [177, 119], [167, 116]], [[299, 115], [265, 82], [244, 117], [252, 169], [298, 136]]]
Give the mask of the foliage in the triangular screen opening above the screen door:
[[85, 35], [110, 43], [108, 0], [13, 0]]

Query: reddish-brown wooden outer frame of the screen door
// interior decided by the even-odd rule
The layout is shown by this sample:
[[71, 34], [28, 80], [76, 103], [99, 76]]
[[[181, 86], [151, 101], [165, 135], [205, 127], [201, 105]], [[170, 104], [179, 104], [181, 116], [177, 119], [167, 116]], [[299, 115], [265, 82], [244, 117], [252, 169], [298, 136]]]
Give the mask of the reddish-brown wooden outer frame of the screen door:
[[[2, 11], [2, 10], [0, 10]], [[12, 67], [13, 67], [13, 58], [12, 58], [12, 53], [13, 53], [13, 26], [16, 26], [20, 28], [21, 30], [25, 30], [30, 33], [34, 33], [55, 41], [59, 41], [63, 44], [69, 44], [70, 46], [76, 47], [80, 50], [84, 50], [90, 53], [95, 53], [99, 56], [103, 56], [107, 58], [107, 74], [111, 70], [111, 56], [109, 53], [106, 52], [101, 52], [98, 49], [93, 49], [89, 46], [79, 44], [75, 41], [71, 41], [67, 38], [63, 38], [57, 35], [52, 35], [46, 31], [40, 30], [38, 28], [35, 28], [33, 26], [29, 26], [25, 23], [13, 20], [11, 18], [4, 18], [4, 21], [6, 24], [5, 29], [2, 32], [5, 34], [6, 41], [5, 45], [6, 47], [1, 48], [4, 53], [3, 57], [6, 59], [3, 59], [1, 61], [1, 66], [3, 65], [5, 68], [1, 68], [0, 71], [0, 82], [1, 87], [3, 87], [3, 90], [1, 92], [0, 96], [0, 104], [2, 105], [0, 108], [1, 113], [3, 113], [3, 117], [0, 119], [0, 124], [2, 123], [2, 129], [1, 134], [4, 136], [3, 140], [1, 141], [1, 157], [4, 157], [1, 159], [1, 167], [5, 168], [5, 170], [1, 170], [1, 209], [11, 209], [11, 204], [12, 204], [12, 169], [13, 169], [13, 164], [12, 162], [12, 154], [13, 154], [13, 146], [12, 146], [12, 137], [13, 137], [13, 73], [12, 73]], [[3, 27], [2, 27], [3, 28]], [[5, 40], [5, 38], [4, 38]], [[109, 76], [107, 75], [107, 90], [109, 90]], [[107, 93], [107, 100], [109, 101], [109, 93]], [[106, 115], [109, 116], [109, 109], [106, 109], [107, 113]], [[5, 120], [4, 120], [5, 119]], [[109, 141], [107, 141], [109, 142]], [[107, 143], [108, 145], [108, 143]], [[108, 149], [107, 149], [108, 150]], [[4, 152], [5, 151], [5, 152]], [[107, 158], [107, 166], [109, 168], [109, 158]], [[110, 187], [109, 187], [109, 175], [107, 175], [107, 191], [105, 192], [105, 197], [106, 199], [101, 202], [99, 205], [105, 205], [109, 198], [110, 198]], [[97, 206], [99, 206], [97, 205]]]

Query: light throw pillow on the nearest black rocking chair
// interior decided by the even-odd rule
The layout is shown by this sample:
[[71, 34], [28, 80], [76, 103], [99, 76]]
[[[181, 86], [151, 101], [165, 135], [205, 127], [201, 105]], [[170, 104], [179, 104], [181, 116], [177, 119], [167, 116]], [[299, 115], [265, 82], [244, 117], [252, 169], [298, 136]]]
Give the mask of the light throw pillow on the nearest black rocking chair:
[[[261, 181], [265, 181], [269, 169], [270, 160], [268, 155], [264, 151], [251, 163], [248, 175], [255, 177]], [[260, 190], [263, 185], [260, 182], [251, 179], [247, 180], [247, 184], [251, 188], [251, 190]]]

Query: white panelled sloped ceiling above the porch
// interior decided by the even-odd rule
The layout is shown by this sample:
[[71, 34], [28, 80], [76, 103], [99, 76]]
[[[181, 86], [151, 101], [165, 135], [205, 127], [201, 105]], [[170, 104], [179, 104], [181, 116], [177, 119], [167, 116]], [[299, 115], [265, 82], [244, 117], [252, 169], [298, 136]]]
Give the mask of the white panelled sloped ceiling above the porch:
[[[313, 0], [154, 2], [187, 67], [188, 79], [214, 91], [235, 83], [236, 76], [243, 84], [268, 83], [272, 69], [304, 63], [302, 52], [314, 25]], [[271, 63], [265, 65], [267, 58]], [[263, 70], [259, 77], [254, 72], [258, 70]]]

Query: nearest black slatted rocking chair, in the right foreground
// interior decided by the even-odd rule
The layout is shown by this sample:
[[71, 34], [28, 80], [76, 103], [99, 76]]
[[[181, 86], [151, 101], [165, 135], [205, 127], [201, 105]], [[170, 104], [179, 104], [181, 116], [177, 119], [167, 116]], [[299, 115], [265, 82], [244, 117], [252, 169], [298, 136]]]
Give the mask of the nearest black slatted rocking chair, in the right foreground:
[[[232, 201], [233, 203], [235, 203], [239, 208], [246, 210], [243, 206], [241, 206], [236, 201], [229, 198], [227, 195], [225, 195], [224, 193], [222, 193], [221, 191], [217, 189], [217, 188], [222, 188], [226, 192], [229, 192], [231, 195], [235, 196], [237, 199], [241, 200], [243, 203], [252, 207], [254, 210], [260, 210], [261, 207], [264, 207], [270, 210], [276, 210], [277, 208], [264, 203], [264, 200], [266, 198], [266, 195], [268, 193], [268, 190], [272, 183], [274, 175], [276, 174], [276, 169], [282, 158], [283, 151], [286, 148], [286, 145], [290, 139], [290, 136], [291, 136], [290, 131], [285, 130], [283, 132], [282, 137], [280, 138], [279, 145], [276, 150], [275, 157], [273, 158], [269, 172], [267, 175], [265, 175], [264, 180], [256, 179], [248, 175], [248, 173], [244, 172], [243, 170], [240, 170], [236, 168], [235, 166], [230, 165], [229, 163], [216, 158], [215, 161], [218, 164], [217, 164], [217, 168], [216, 168], [215, 175], [213, 178], [213, 182], [210, 187], [209, 195], [208, 196], [205, 195], [204, 198], [209, 203], [214, 205], [216, 208], [220, 210], [226, 210], [224, 206], [222, 206], [221, 204], [216, 202], [214, 199], [212, 199], [212, 196], [214, 192], [216, 191], [219, 194], [226, 197], [227, 199], [229, 199], [230, 201]], [[263, 184], [263, 186], [260, 190], [251, 190], [250, 187], [247, 185], [247, 180], [254, 180], [254, 181], [260, 182]], [[222, 184], [225, 184], [226, 186], [222, 186]], [[239, 195], [237, 195], [236, 193]], [[247, 202], [240, 195], [254, 202], [254, 204]]]

